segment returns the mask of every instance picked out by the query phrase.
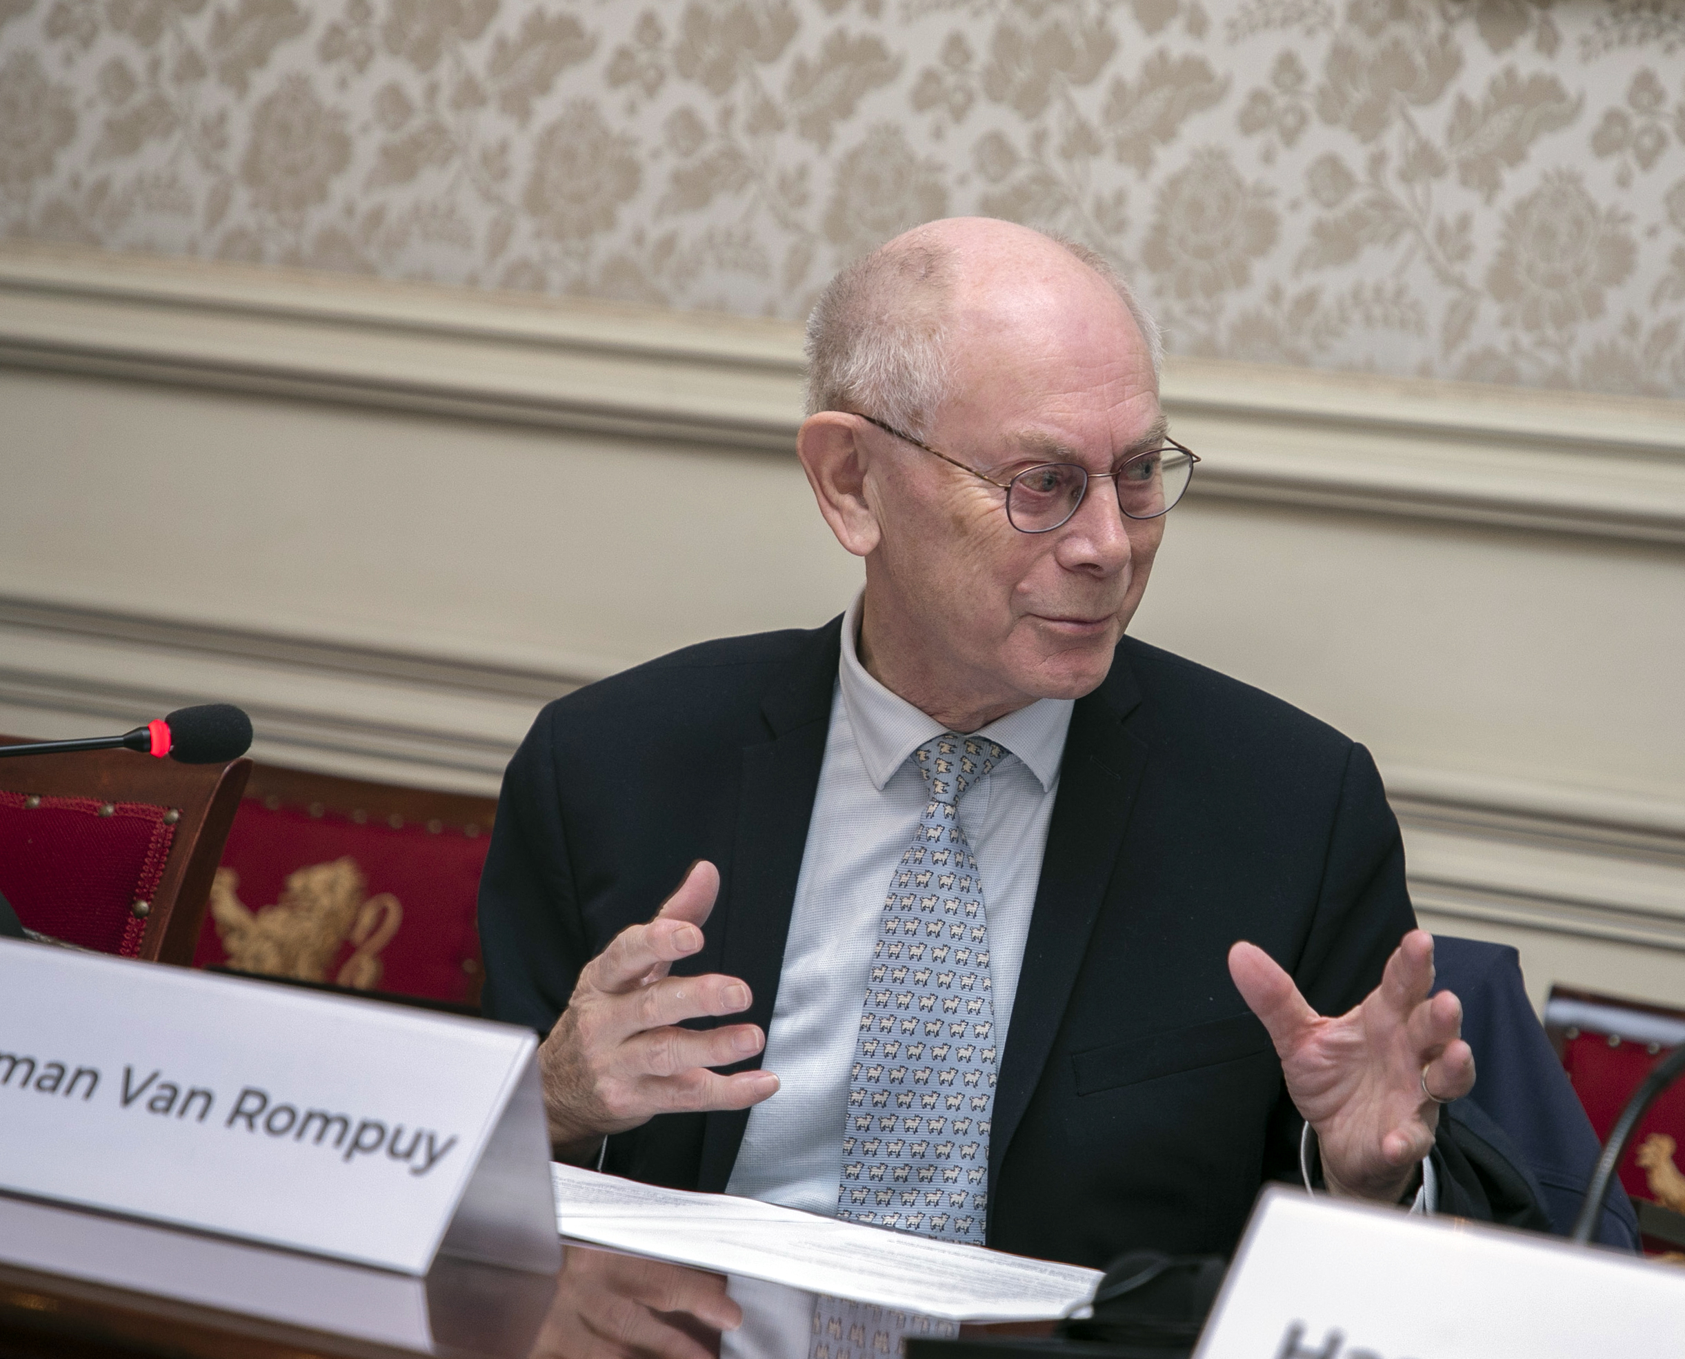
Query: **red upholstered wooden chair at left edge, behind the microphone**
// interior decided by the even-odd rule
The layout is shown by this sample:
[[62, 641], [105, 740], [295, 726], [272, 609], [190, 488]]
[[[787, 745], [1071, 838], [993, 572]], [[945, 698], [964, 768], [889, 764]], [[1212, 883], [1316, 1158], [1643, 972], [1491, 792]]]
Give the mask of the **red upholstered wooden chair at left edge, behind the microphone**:
[[39, 934], [189, 963], [249, 769], [133, 750], [0, 760], [0, 895]]

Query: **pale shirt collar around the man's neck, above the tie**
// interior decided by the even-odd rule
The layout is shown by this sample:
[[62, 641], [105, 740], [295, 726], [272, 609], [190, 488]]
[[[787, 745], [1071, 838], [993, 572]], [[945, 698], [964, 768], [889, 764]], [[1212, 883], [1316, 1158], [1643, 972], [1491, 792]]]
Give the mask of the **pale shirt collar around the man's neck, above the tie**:
[[[842, 659], [837, 666], [837, 685], [842, 690], [842, 706], [848, 710], [849, 727], [854, 730], [854, 744], [866, 765], [866, 777], [881, 792], [907, 757], [927, 740], [942, 735], [947, 727], [915, 708], [898, 693], [886, 690], [859, 663], [854, 637], [859, 634], [859, 610], [864, 597], [864, 590], [854, 595], [854, 602], [842, 615]], [[1065, 754], [1065, 733], [1070, 730], [1073, 706], [1075, 700], [1072, 698], [1038, 698], [1028, 708], [991, 722], [976, 735], [998, 740], [1018, 755], [1024, 767], [1036, 776], [1041, 791], [1046, 792], [1058, 779], [1058, 762]]]

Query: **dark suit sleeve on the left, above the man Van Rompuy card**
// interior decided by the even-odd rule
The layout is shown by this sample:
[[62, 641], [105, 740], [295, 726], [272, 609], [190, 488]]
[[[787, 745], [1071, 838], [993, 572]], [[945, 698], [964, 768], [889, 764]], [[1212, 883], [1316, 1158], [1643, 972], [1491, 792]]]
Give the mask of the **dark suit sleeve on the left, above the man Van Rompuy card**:
[[568, 858], [556, 706], [539, 713], [504, 772], [480, 875], [487, 1018], [548, 1034], [590, 961]]

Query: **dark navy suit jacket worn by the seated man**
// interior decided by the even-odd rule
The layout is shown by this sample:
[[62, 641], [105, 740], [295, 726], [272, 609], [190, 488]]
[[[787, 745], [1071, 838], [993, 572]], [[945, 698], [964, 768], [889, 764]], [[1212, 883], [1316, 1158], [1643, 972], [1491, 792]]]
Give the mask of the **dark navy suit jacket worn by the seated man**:
[[[480, 889], [487, 1015], [548, 1030], [583, 964], [708, 858], [719, 900], [677, 971], [743, 978], [755, 1002], [735, 1018], [770, 1023], [839, 622], [706, 642], [544, 708]], [[1368, 752], [1126, 637], [1060, 767], [996, 1091], [989, 1244], [1094, 1266], [1230, 1251], [1260, 1185], [1296, 1179], [1301, 1126], [1230, 944], [1260, 944], [1340, 1013], [1412, 926]], [[746, 1120], [654, 1118], [610, 1138], [605, 1168], [723, 1190]], [[1436, 1157], [1444, 1211], [1522, 1211], [1447, 1136]]]

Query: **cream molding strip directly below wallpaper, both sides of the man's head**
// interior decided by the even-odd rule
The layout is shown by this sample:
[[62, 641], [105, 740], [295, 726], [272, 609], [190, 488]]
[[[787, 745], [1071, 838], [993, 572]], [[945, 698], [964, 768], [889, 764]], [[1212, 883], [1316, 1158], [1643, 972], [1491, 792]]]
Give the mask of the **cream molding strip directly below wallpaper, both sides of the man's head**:
[[[789, 452], [799, 327], [0, 246], [0, 366]], [[1685, 543], [1685, 403], [1173, 359], [1196, 496]]]

